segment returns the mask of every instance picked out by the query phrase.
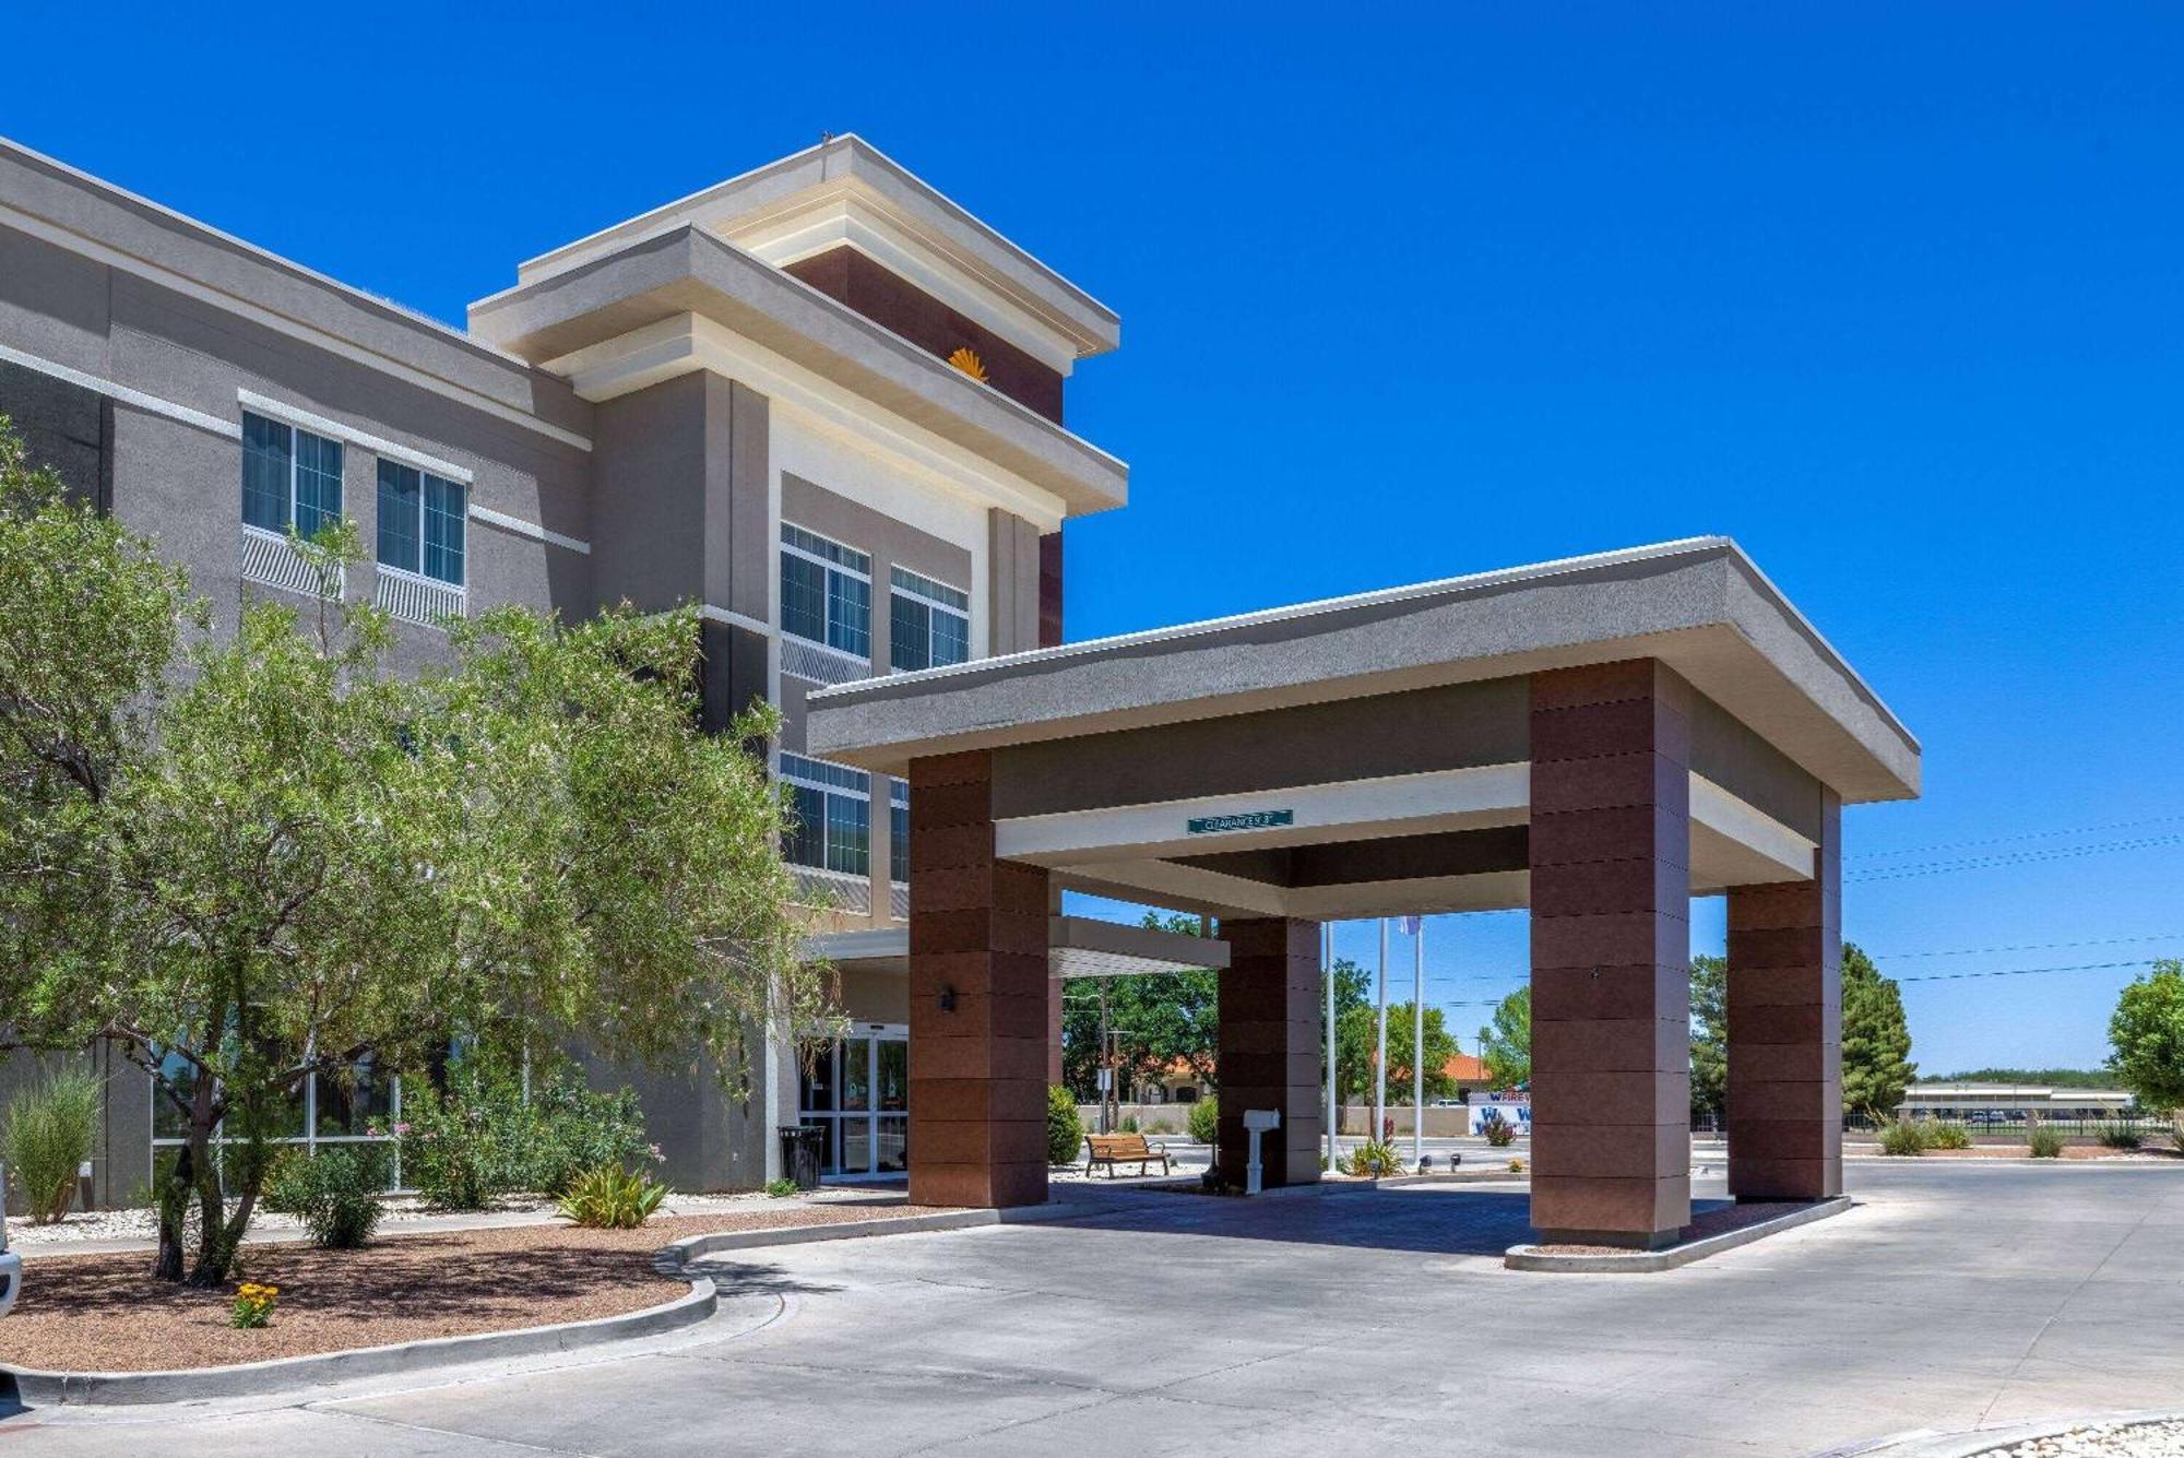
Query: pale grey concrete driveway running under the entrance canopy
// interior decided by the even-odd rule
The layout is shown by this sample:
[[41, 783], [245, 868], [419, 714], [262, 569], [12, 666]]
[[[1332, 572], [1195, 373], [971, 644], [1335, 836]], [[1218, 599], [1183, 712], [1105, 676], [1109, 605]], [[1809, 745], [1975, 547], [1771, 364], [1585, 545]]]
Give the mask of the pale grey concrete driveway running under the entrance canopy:
[[2184, 1406], [2184, 1168], [1850, 1183], [1845, 1216], [1642, 1277], [1503, 1270], [1516, 1187], [1120, 1192], [723, 1264], [740, 1334], [673, 1353], [249, 1414], [31, 1412], [0, 1451], [1645, 1458]]

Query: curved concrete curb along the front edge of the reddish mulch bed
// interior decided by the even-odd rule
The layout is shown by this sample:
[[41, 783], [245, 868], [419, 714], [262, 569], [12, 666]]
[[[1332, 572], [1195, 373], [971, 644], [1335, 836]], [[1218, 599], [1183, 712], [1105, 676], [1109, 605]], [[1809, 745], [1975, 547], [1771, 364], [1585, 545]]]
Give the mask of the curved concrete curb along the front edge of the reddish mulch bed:
[[461, 1362], [498, 1358], [535, 1358], [636, 1336], [660, 1336], [692, 1327], [719, 1307], [719, 1294], [708, 1277], [695, 1277], [690, 1292], [642, 1312], [568, 1320], [553, 1327], [518, 1331], [478, 1331], [441, 1336], [426, 1342], [393, 1347], [358, 1347], [356, 1351], [323, 1351], [310, 1358], [275, 1358], [238, 1366], [192, 1366], [162, 1373], [48, 1373], [0, 1364], [0, 1388], [15, 1386], [24, 1406], [138, 1406], [168, 1401], [203, 1401], [207, 1397], [262, 1397], [295, 1388], [347, 1382], [352, 1377], [384, 1377], [456, 1366]]

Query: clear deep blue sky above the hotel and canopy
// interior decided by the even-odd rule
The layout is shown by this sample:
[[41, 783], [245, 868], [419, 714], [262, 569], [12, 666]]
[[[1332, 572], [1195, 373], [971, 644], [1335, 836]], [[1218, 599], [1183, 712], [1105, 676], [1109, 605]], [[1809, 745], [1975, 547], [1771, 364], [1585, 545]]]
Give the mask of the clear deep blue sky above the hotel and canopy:
[[[1730, 533], [1926, 746], [1848, 816], [1885, 971], [2184, 952], [2173, 7], [247, 9], [15, 7], [0, 133], [459, 321], [860, 131], [1123, 314], [1072, 637]], [[2127, 978], [1907, 982], [1915, 1056], [2097, 1063]]]

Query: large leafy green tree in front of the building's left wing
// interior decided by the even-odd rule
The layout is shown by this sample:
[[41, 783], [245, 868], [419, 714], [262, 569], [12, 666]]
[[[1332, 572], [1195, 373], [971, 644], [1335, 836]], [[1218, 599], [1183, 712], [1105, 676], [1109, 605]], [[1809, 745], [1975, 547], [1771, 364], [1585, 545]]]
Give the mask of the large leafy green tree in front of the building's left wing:
[[188, 1279], [225, 1281], [312, 1074], [581, 1037], [734, 1087], [762, 1028], [826, 1015], [782, 799], [740, 751], [773, 725], [697, 731], [692, 611], [502, 609], [452, 629], [452, 670], [404, 681], [384, 618], [332, 591], [343, 524], [299, 543], [310, 631], [247, 605], [162, 694], [175, 624], [203, 622], [181, 578], [4, 432], [0, 489], [7, 1041], [114, 1039], [151, 1076], [183, 1135], [159, 1275], [183, 1275], [194, 1203]]

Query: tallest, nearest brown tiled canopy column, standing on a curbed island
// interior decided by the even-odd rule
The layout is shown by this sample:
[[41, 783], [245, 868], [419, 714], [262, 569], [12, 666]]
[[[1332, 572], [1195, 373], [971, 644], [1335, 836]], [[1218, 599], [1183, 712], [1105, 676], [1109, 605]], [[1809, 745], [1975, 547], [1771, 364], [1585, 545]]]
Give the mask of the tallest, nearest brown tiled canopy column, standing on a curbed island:
[[1690, 690], [1653, 659], [1531, 677], [1531, 1222], [1690, 1220]]

